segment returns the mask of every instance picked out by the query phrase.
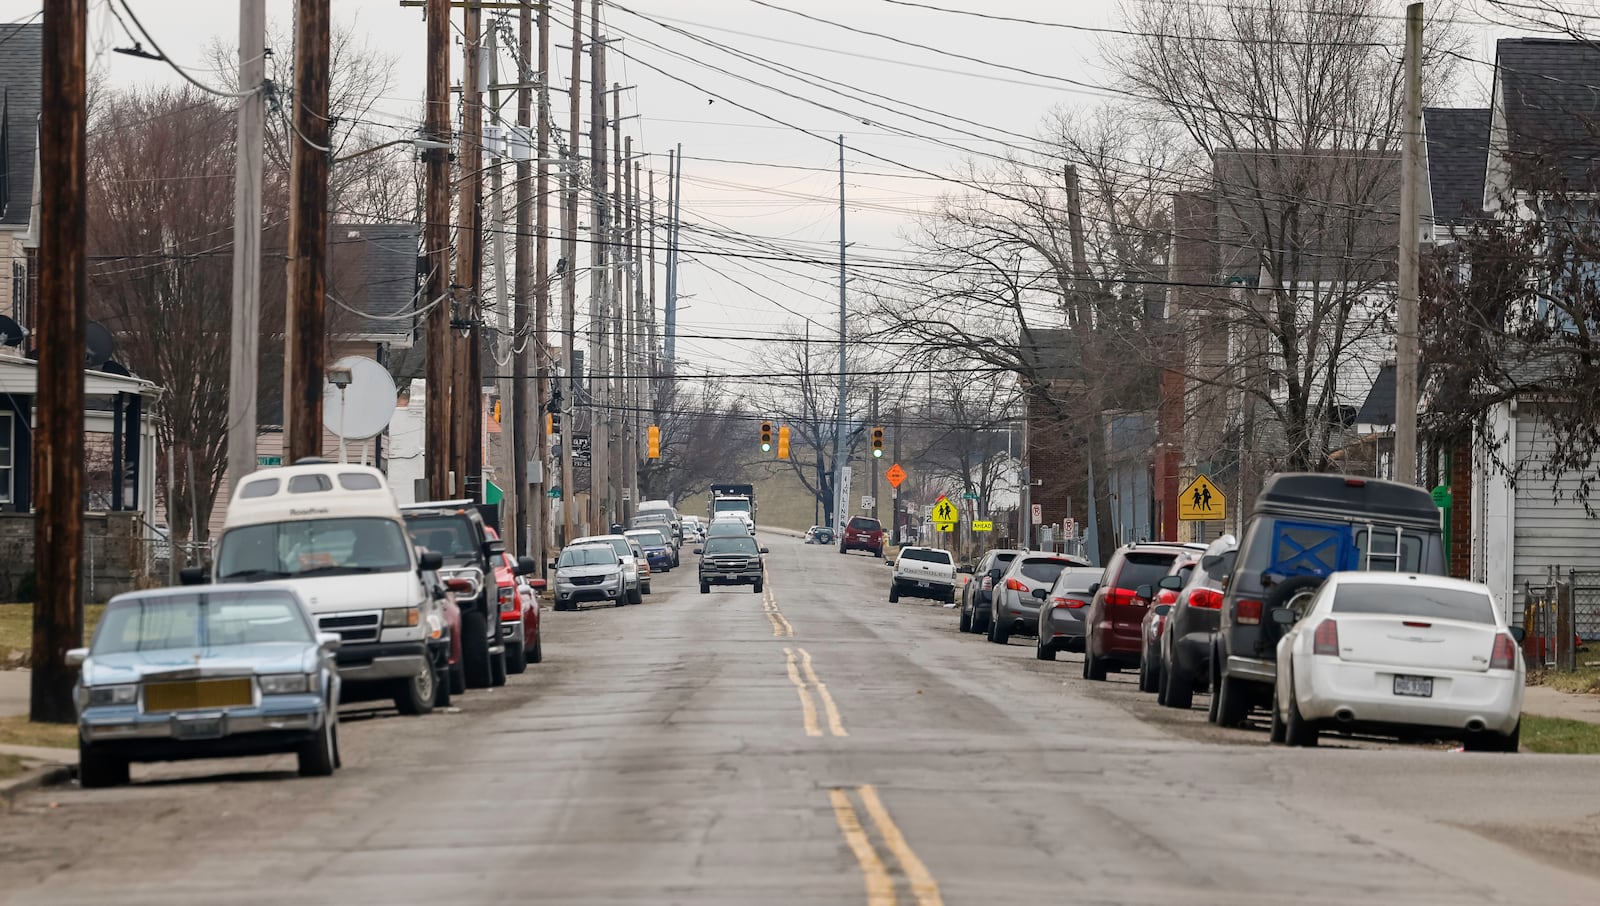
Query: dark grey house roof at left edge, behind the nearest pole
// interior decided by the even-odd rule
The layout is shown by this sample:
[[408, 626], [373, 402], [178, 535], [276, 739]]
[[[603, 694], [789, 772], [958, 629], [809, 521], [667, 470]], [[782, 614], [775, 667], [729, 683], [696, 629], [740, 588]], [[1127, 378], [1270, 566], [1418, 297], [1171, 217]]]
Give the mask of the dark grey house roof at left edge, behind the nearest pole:
[[0, 26], [0, 226], [27, 224], [43, 91], [45, 26]]

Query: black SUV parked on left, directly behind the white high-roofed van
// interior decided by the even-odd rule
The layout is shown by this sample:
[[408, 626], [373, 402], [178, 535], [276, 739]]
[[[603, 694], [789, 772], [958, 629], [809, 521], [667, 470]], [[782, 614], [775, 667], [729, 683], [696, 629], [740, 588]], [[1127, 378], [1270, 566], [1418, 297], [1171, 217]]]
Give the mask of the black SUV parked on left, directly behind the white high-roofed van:
[[430, 501], [400, 507], [411, 543], [443, 557], [440, 576], [472, 579], [477, 592], [456, 594], [461, 607], [461, 664], [467, 688], [506, 685], [506, 645], [501, 642], [499, 584], [494, 565], [506, 546], [488, 536], [474, 501]]

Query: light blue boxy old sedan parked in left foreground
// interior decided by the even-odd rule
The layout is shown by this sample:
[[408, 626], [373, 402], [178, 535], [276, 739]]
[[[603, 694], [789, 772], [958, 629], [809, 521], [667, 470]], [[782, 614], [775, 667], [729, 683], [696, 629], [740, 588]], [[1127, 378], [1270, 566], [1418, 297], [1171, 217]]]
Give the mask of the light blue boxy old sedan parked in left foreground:
[[80, 667], [78, 780], [128, 783], [130, 762], [294, 752], [302, 776], [339, 765], [339, 635], [288, 584], [170, 587], [114, 597]]

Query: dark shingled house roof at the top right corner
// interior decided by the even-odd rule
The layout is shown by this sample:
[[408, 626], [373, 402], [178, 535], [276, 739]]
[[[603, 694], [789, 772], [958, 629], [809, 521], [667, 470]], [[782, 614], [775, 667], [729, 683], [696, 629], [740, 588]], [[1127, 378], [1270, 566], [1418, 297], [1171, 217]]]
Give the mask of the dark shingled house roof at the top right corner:
[[1600, 168], [1600, 46], [1557, 38], [1502, 38], [1494, 82], [1512, 181], [1550, 168], [1590, 186]]

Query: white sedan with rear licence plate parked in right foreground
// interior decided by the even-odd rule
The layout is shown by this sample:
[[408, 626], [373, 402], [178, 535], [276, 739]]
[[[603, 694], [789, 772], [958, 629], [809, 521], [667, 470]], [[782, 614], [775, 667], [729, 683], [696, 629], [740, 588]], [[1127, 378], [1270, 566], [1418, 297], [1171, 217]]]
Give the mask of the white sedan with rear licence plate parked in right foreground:
[[1272, 741], [1315, 746], [1322, 730], [1456, 738], [1515, 752], [1523, 663], [1488, 587], [1410, 573], [1334, 573], [1278, 642]]

